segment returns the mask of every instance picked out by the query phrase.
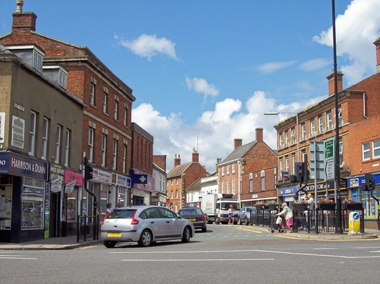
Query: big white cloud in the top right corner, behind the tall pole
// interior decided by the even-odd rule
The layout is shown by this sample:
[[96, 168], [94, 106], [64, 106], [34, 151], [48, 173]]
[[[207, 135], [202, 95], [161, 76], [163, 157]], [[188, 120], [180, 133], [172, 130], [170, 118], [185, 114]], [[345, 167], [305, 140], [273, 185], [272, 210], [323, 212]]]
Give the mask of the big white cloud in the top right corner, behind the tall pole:
[[[376, 55], [372, 44], [380, 32], [380, 1], [353, 0], [344, 14], [336, 17], [336, 53], [344, 59], [338, 69], [353, 85], [375, 72]], [[314, 36], [314, 41], [332, 46], [332, 27]], [[341, 65], [341, 68], [339, 68]]]

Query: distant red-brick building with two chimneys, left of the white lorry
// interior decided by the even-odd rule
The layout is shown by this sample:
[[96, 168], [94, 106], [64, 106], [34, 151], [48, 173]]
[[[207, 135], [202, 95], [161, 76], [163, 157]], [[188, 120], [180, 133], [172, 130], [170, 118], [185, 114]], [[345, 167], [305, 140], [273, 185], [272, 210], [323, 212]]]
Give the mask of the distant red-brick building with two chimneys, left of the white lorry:
[[180, 155], [175, 154], [174, 167], [167, 175], [167, 206], [178, 212], [187, 202], [187, 188], [207, 174], [205, 167], [199, 163], [199, 153], [196, 150], [193, 150], [191, 162], [182, 165]]

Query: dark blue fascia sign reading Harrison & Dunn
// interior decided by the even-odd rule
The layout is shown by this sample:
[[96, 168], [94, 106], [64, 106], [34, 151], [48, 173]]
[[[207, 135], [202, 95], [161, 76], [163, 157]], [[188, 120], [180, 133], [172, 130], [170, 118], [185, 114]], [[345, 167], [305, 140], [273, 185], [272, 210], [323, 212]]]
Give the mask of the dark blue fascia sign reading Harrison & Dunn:
[[10, 152], [0, 153], [0, 173], [30, 176], [46, 181], [48, 177], [47, 169], [48, 163], [43, 161]]

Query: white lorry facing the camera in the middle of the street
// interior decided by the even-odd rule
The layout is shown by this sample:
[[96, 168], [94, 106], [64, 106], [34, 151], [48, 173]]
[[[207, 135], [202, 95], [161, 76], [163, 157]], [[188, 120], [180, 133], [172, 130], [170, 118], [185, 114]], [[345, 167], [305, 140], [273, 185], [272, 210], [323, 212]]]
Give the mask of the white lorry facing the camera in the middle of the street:
[[240, 202], [235, 194], [205, 194], [202, 195], [200, 205], [203, 213], [207, 215], [208, 224], [228, 223], [230, 205], [234, 208], [234, 223], [238, 221]]

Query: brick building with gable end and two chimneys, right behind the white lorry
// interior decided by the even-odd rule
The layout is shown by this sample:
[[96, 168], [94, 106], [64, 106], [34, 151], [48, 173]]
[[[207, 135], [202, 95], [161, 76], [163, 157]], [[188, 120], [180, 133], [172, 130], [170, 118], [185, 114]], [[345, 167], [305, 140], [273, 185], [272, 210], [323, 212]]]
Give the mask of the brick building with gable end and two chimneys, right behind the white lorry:
[[277, 156], [263, 141], [263, 128], [256, 140], [243, 145], [234, 139], [234, 151], [218, 163], [218, 193], [236, 194], [243, 206], [258, 200], [276, 200]]

